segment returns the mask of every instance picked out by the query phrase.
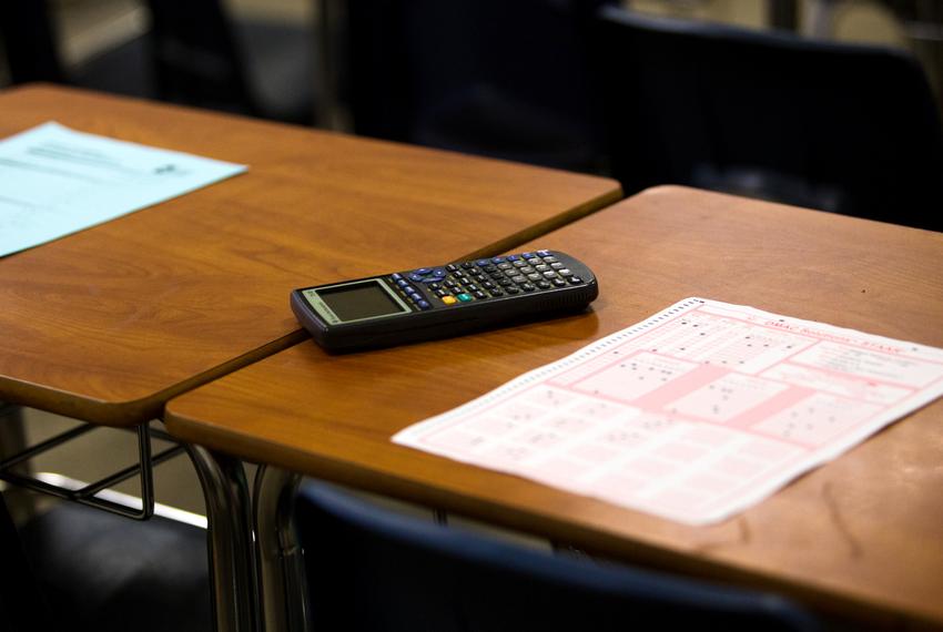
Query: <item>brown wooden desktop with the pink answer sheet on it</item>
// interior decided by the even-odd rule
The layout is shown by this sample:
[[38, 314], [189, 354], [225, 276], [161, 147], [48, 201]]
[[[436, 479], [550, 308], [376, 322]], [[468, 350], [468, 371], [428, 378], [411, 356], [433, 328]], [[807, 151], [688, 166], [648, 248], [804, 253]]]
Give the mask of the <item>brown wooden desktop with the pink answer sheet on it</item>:
[[663, 187], [523, 249], [539, 247], [597, 273], [591, 313], [347, 356], [304, 342], [172, 400], [170, 431], [589, 551], [774, 589], [862, 624], [943, 626], [943, 401], [704, 528], [389, 442], [687, 296], [943, 346], [943, 234]]

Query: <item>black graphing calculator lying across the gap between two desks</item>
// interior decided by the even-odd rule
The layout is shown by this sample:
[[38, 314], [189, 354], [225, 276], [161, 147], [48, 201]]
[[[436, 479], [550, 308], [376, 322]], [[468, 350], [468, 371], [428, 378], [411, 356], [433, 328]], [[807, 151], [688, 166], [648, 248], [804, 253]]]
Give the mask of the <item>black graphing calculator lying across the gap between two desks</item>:
[[535, 251], [303, 287], [292, 310], [318, 345], [346, 351], [550, 317], [598, 295], [585, 264]]

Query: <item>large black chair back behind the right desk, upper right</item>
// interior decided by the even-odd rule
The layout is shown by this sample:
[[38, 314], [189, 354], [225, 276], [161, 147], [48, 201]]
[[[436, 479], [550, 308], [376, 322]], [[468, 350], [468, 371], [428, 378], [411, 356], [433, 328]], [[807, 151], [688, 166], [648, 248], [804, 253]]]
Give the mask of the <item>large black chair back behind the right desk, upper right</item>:
[[917, 63], [606, 7], [597, 64], [612, 174], [943, 231], [940, 111]]

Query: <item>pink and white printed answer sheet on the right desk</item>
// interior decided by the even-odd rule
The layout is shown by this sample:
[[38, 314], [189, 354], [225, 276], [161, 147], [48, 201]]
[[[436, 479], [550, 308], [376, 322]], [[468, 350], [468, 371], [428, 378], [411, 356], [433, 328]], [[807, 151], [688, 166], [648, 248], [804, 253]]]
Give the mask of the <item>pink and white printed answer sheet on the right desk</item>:
[[943, 395], [943, 349], [687, 298], [397, 444], [691, 524]]

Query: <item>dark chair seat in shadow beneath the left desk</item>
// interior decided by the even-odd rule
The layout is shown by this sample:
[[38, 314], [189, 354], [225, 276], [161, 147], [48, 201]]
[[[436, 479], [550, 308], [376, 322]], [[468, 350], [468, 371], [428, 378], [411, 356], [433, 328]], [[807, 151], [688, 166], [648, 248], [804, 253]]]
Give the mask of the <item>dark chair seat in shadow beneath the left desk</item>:
[[[213, 629], [203, 529], [159, 517], [136, 522], [63, 501], [21, 526], [19, 536], [39, 592], [28, 595], [28, 614], [20, 605], [29, 625], [19, 630]], [[7, 573], [4, 559], [0, 587]]]

